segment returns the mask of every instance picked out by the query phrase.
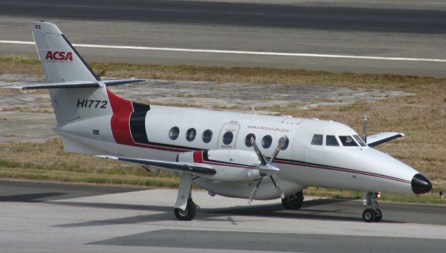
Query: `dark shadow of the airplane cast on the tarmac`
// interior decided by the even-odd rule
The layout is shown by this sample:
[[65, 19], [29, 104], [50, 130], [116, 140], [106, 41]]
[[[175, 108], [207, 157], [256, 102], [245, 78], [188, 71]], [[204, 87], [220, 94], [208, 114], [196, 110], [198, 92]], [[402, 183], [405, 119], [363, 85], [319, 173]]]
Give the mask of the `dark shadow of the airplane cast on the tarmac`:
[[[220, 209], [199, 209], [195, 220], [213, 220], [221, 222], [231, 222], [232, 225], [238, 225], [238, 222], [244, 222], [240, 218], [234, 219], [231, 215], [249, 216], [259, 218], [289, 218], [289, 219], [307, 219], [307, 220], [335, 220], [335, 221], [355, 221], [363, 222], [360, 213], [346, 209], [334, 209], [330, 204], [347, 202], [344, 199], [317, 199], [305, 202], [300, 210], [284, 210], [282, 204], [266, 204], [253, 206], [236, 206]], [[159, 213], [148, 215], [135, 215], [125, 218], [114, 218], [107, 220], [92, 220], [87, 222], [75, 222], [65, 225], [56, 225], [54, 227], [92, 227], [102, 225], [123, 225], [137, 224], [144, 222], [159, 222], [160, 220], [176, 220], [171, 206], [151, 206], [151, 205], [131, 205], [131, 204], [112, 204], [112, 203], [85, 203], [85, 202], [45, 202], [46, 204], [66, 205], [66, 206], [85, 206], [105, 209], [127, 209], [137, 211], [156, 211]], [[316, 206], [328, 205], [327, 209], [314, 209]], [[339, 206], [335, 206], [339, 207]], [[222, 218], [222, 215], [228, 215]], [[250, 221], [252, 221], [250, 219]], [[385, 220], [383, 222], [403, 223], [398, 221]]]

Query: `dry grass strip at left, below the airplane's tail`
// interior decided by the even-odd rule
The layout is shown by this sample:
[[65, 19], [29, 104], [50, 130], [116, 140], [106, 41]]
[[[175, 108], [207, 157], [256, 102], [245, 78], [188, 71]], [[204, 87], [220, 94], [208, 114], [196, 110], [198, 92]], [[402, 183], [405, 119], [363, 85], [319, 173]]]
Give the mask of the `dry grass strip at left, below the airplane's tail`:
[[[0, 177], [177, 187], [178, 179], [128, 163], [63, 151], [61, 140], [0, 144]], [[13, 170], [12, 170], [13, 169]]]

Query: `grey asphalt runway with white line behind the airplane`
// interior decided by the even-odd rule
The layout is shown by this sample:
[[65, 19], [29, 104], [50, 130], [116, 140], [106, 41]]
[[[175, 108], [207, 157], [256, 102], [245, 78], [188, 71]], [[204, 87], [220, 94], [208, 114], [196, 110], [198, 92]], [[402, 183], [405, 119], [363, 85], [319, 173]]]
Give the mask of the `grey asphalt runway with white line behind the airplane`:
[[[313, 55], [78, 48], [89, 61], [446, 76], [445, 61], [420, 60], [446, 59], [442, 1], [266, 2], [0, 0], [1, 40], [32, 41], [27, 22], [45, 19], [78, 44]], [[33, 45], [0, 43], [8, 54], [36, 57]]]

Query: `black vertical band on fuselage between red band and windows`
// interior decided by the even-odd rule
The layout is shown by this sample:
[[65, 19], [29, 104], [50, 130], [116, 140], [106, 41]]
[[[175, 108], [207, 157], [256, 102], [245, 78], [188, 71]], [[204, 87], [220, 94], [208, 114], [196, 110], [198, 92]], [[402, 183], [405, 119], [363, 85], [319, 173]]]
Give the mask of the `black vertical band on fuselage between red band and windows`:
[[150, 144], [146, 131], [146, 115], [151, 106], [132, 102], [133, 112], [130, 114], [130, 133], [135, 143]]

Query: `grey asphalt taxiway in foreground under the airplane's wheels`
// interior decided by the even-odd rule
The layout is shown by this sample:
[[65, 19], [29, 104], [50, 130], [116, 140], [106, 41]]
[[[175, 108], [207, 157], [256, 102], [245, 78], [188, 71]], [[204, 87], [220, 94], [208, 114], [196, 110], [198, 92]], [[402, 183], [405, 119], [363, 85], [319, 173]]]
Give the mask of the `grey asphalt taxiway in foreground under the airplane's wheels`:
[[[192, 193], [190, 222], [174, 218], [176, 190], [0, 180], [1, 252], [443, 252], [445, 206], [381, 203], [364, 223], [361, 202]], [[310, 199], [310, 198], [309, 198]]]

